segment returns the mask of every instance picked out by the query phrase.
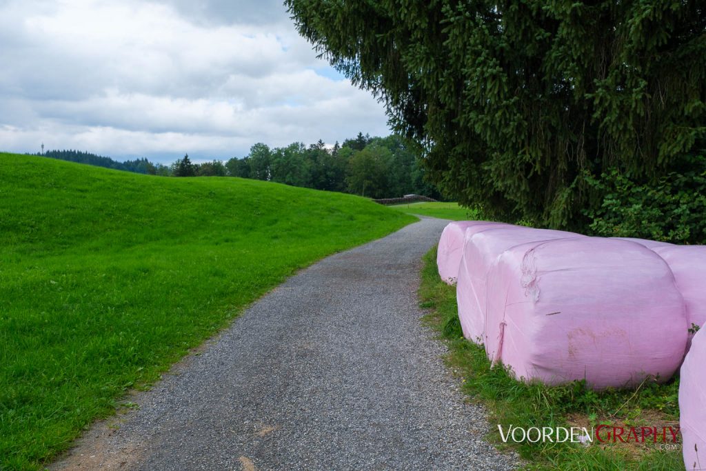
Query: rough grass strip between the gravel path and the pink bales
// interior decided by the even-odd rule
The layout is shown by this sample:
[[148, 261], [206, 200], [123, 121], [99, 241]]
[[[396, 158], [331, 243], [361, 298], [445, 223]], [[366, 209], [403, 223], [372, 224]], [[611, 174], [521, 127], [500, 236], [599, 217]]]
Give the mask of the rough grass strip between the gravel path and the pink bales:
[[636, 446], [617, 443], [591, 446], [576, 443], [501, 443], [498, 424], [519, 427], [678, 427], [678, 381], [664, 385], [645, 382], [635, 391], [585, 388], [582, 382], [548, 387], [515, 381], [506, 369], [491, 368], [482, 346], [462, 337], [455, 287], [439, 278], [436, 247], [424, 256], [419, 289], [421, 306], [430, 309], [429, 323], [448, 343], [448, 364], [463, 377], [472, 400], [489, 407], [489, 439], [500, 448], [512, 448], [528, 470], [683, 470], [681, 448], [662, 451], [654, 443]]

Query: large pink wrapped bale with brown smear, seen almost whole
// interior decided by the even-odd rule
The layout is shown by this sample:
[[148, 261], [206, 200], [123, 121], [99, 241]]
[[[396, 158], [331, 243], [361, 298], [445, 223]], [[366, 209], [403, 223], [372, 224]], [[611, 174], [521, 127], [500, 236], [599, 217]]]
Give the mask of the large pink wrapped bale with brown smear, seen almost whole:
[[635, 242], [575, 237], [508, 249], [488, 275], [485, 348], [517, 378], [593, 388], [666, 381], [686, 309], [669, 266]]

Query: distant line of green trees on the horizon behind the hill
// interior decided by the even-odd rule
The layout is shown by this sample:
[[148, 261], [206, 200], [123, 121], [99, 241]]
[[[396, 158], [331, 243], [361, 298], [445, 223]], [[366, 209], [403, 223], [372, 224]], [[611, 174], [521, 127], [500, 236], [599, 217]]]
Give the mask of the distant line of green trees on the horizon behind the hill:
[[164, 177], [241, 177], [275, 181], [305, 188], [354, 193], [369, 198], [393, 198], [409, 193], [441, 199], [424, 178], [417, 154], [400, 136], [385, 138], [363, 135], [325, 147], [322, 141], [308, 147], [292, 143], [270, 148], [257, 143], [243, 158], [193, 163], [189, 155], [172, 165], [152, 163], [146, 158], [118, 162], [78, 150], [47, 150], [39, 155], [109, 169]]

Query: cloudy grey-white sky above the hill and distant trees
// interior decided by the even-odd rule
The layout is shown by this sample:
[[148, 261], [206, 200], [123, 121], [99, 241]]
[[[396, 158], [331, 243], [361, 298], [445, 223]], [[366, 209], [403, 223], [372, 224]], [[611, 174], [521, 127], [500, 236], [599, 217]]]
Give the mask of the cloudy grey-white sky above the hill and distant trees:
[[0, 0], [0, 150], [172, 162], [385, 135], [278, 0]]

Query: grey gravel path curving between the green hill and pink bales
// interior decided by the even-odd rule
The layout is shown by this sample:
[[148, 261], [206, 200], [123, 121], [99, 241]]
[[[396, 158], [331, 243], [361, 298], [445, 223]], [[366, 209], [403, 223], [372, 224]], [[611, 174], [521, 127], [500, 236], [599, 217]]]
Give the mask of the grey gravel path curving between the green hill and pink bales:
[[421, 326], [424, 218], [325, 258], [181, 362], [59, 470], [508, 470]]

